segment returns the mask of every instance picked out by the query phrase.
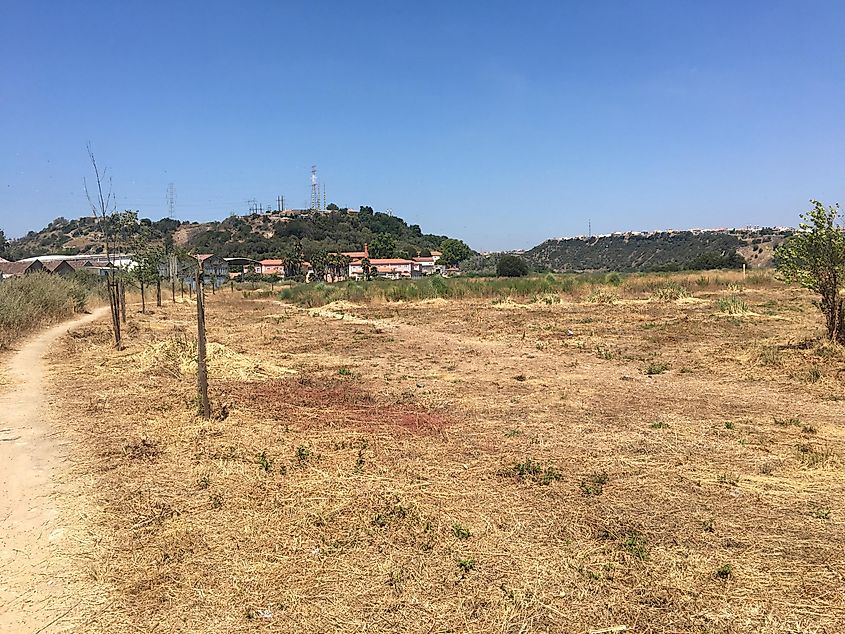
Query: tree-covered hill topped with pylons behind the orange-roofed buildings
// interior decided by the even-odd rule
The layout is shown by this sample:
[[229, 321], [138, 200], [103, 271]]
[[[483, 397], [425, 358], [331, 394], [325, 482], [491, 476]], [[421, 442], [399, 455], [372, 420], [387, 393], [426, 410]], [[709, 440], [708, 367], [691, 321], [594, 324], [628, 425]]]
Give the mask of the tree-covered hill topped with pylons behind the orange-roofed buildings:
[[[419, 225], [408, 225], [397, 216], [374, 212], [369, 207], [360, 212], [230, 216], [221, 222], [207, 223], [142, 219], [141, 224], [149, 227], [152, 238], [162, 243], [172, 240], [177, 246], [200, 253], [256, 259], [284, 257], [300, 249], [306, 258], [328, 251], [356, 251], [379, 234], [393, 238], [397, 256], [411, 257], [438, 248], [447, 238], [425, 234]], [[6, 254], [17, 260], [47, 253], [98, 253], [101, 249], [93, 218], [57, 218], [41, 231], [30, 231], [10, 241]]]

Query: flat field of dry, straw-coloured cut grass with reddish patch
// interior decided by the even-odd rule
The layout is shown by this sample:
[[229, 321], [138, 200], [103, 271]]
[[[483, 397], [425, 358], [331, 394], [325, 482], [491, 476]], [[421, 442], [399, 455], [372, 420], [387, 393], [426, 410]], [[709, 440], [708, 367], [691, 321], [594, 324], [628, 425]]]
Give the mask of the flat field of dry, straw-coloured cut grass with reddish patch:
[[[718, 278], [716, 277], [718, 276]], [[657, 281], [655, 281], [657, 280]], [[684, 290], [678, 290], [684, 289]], [[54, 351], [100, 632], [845, 630], [843, 350], [738, 274], [300, 308]]]

